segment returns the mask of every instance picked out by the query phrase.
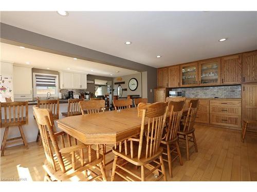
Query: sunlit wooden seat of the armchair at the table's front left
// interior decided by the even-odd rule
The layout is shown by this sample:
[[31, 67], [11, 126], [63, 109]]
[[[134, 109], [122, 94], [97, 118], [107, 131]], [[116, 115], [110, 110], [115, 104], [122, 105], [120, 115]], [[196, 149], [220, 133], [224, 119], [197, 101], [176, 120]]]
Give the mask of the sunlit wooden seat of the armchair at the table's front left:
[[48, 161], [45, 160], [45, 164], [43, 165], [43, 168], [47, 172], [47, 174], [50, 176], [52, 180], [57, 180], [57, 181], [88, 181], [90, 179], [86, 178], [84, 170], [92, 168], [93, 166], [99, 164], [103, 160], [103, 156], [99, 154], [99, 159], [97, 159], [96, 156], [96, 151], [91, 149], [91, 162], [88, 162], [88, 151], [86, 148], [84, 150], [84, 165], [81, 166], [81, 161], [80, 161], [80, 153], [75, 152], [75, 158], [76, 158], [76, 169], [74, 170], [72, 168], [71, 164], [71, 154], [62, 154], [63, 157], [63, 162], [64, 166], [66, 169], [66, 172], [63, 173], [60, 166], [59, 162], [57, 159], [56, 154], [54, 154], [54, 163], [56, 164], [56, 172], [53, 172], [51, 169], [50, 165], [48, 164]]

